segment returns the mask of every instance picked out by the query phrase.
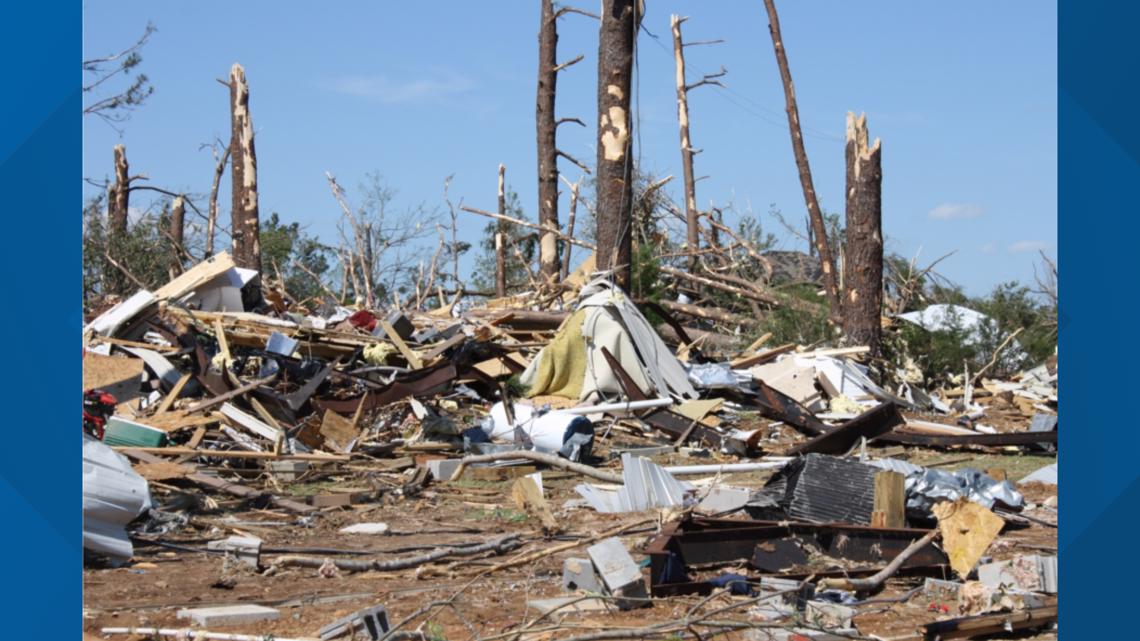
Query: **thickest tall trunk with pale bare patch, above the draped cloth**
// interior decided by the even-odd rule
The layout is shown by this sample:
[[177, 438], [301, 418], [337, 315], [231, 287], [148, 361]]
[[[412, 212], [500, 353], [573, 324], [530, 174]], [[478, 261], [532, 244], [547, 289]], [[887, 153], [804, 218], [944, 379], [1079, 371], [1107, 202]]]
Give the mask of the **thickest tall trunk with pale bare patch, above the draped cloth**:
[[638, 0], [602, 0], [597, 38], [597, 268], [633, 281], [633, 120], [629, 114]]

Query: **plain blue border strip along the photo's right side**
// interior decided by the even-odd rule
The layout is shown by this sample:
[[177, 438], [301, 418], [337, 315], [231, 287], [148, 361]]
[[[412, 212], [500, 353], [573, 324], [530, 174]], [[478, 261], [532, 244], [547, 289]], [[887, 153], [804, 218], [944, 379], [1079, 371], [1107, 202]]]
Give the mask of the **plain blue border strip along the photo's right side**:
[[1060, 2], [1060, 618], [1074, 638], [1121, 638], [1137, 608], [1138, 24], [1135, 3]]

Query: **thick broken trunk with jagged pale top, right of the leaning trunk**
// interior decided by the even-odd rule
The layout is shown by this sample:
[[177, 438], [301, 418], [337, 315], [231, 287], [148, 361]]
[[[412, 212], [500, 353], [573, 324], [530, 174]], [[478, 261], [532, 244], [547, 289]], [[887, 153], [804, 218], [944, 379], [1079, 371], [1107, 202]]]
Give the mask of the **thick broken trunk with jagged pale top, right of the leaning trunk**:
[[882, 343], [882, 164], [878, 139], [868, 146], [866, 115], [847, 113], [847, 251], [844, 334], [879, 356]]

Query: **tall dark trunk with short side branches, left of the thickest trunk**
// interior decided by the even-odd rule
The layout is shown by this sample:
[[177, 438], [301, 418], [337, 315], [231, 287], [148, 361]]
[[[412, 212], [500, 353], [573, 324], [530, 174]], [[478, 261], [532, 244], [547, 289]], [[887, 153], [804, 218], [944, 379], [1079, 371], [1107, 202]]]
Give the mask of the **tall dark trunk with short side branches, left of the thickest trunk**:
[[557, 123], [554, 120], [554, 96], [557, 86], [557, 21], [554, 1], [542, 0], [542, 23], [538, 27], [538, 98], [535, 105], [535, 129], [538, 135], [538, 263], [545, 286], [559, 277], [559, 164]]

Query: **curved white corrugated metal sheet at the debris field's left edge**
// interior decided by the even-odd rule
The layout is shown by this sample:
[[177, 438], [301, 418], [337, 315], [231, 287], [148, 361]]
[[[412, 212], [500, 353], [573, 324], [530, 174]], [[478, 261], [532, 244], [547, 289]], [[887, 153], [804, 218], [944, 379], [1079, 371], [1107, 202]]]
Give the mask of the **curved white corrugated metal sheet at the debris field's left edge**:
[[150, 489], [127, 459], [83, 435], [83, 547], [127, 560], [125, 526], [150, 508]]

